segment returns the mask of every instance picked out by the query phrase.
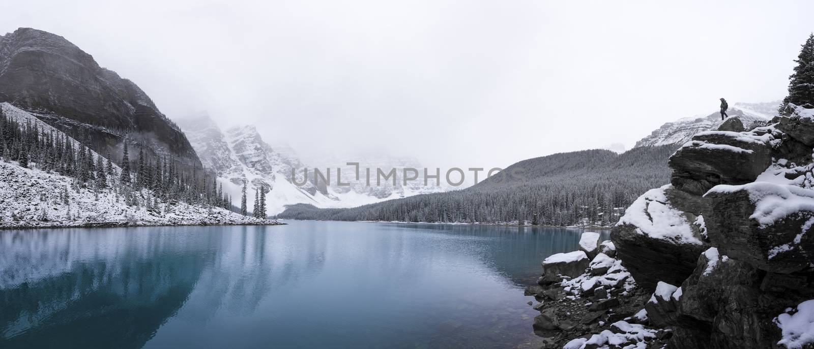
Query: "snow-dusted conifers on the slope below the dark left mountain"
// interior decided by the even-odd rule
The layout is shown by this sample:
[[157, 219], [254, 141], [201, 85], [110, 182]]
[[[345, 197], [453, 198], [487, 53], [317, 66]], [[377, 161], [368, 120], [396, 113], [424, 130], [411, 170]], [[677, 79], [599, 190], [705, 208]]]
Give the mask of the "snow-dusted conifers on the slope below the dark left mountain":
[[[114, 190], [125, 203], [158, 209], [159, 201], [172, 204], [208, 204], [236, 211], [230, 195], [205, 172], [179, 170], [166, 158], [147, 159], [139, 150], [138, 159], [129, 156], [127, 142], [120, 167], [66, 134], [43, 129], [31, 120], [20, 124], [0, 108], [0, 157], [17, 161], [21, 167], [37, 168], [72, 177], [74, 185], [93, 190]], [[67, 200], [67, 194], [64, 195]]]

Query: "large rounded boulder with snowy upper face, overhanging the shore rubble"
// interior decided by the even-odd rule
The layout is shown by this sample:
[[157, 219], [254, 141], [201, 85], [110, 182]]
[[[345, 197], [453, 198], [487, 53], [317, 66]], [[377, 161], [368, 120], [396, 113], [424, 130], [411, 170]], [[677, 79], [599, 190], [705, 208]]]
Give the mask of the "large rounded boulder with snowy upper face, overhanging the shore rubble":
[[[700, 198], [671, 185], [649, 190], [632, 203], [610, 233], [634, 280], [654, 290], [657, 282], [680, 285], [709, 245], [702, 239]], [[681, 207], [681, 208], [679, 208]]]

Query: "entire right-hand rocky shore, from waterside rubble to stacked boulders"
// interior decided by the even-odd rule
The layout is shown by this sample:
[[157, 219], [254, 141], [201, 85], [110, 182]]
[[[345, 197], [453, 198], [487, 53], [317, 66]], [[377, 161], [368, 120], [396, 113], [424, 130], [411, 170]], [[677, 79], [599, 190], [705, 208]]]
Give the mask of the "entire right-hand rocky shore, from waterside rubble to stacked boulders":
[[543, 261], [543, 347], [814, 348], [812, 147], [810, 105], [696, 134], [609, 242]]

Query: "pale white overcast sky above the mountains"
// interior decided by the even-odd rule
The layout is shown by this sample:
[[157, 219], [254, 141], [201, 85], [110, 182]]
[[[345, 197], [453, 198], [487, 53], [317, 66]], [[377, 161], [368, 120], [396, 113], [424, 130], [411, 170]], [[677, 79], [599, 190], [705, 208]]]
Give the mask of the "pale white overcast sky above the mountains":
[[[432, 166], [630, 147], [661, 124], [786, 94], [814, 2], [0, 0], [170, 118], [256, 124], [306, 157]], [[352, 159], [348, 159], [352, 160]]]

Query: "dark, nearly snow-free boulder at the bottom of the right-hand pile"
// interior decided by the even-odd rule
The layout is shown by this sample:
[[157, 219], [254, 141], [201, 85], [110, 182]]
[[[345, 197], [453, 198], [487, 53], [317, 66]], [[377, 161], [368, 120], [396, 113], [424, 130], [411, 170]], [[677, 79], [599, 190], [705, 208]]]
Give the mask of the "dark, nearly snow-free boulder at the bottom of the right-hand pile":
[[669, 347], [777, 347], [781, 331], [773, 319], [805, 296], [760, 290], [763, 278], [759, 269], [714, 247], [705, 251], [693, 275], [681, 285], [676, 334]]

